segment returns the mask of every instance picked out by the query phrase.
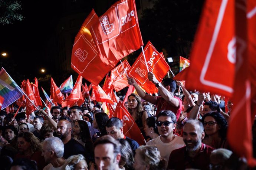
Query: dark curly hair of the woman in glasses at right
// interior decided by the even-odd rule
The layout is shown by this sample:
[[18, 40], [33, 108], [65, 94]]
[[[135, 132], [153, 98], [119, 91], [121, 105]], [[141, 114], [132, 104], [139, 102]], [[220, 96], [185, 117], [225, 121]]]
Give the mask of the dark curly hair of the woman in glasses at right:
[[227, 135], [227, 120], [219, 113], [219, 112], [209, 112], [206, 113], [203, 118], [202, 118], [202, 122], [204, 122], [204, 119], [207, 116], [211, 116], [212, 118], [214, 118], [217, 122], [218, 125], [220, 125], [220, 130], [219, 130], [219, 135], [222, 139], [226, 139], [226, 135]]

